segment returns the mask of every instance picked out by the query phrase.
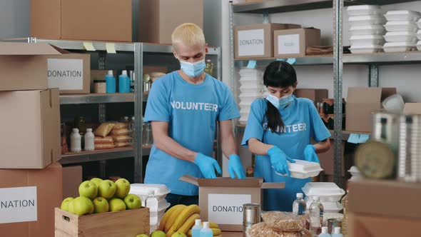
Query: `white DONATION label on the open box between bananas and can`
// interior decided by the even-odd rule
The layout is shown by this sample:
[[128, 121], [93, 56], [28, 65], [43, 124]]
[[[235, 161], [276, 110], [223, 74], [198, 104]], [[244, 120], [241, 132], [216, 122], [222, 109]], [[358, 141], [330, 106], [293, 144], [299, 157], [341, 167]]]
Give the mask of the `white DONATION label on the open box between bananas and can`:
[[208, 220], [242, 225], [245, 203], [251, 203], [250, 194], [208, 194]]

